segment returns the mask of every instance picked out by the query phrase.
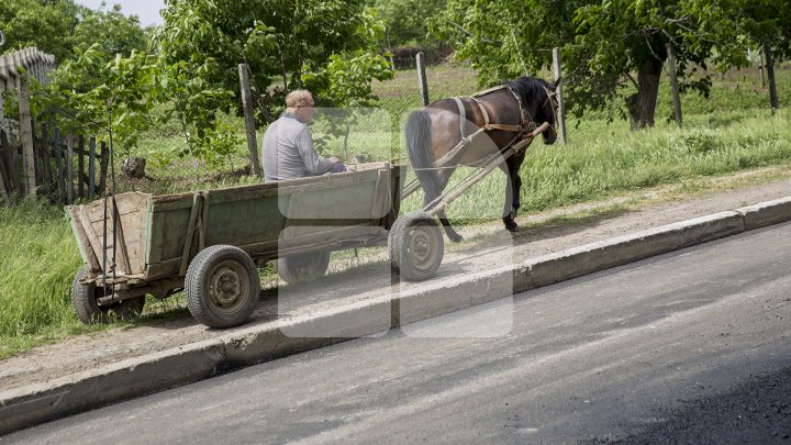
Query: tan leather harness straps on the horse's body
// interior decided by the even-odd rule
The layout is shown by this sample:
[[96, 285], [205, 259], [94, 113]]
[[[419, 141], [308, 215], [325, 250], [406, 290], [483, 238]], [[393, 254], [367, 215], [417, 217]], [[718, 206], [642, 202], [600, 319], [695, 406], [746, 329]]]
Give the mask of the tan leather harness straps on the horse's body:
[[[489, 112], [487, 111], [486, 107], [483, 107], [483, 103], [479, 99], [483, 96], [487, 96], [494, 91], [499, 91], [501, 89], [508, 89], [511, 92], [511, 94], [513, 94], [514, 99], [516, 99], [516, 103], [519, 103], [520, 123], [516, 125], [491, 123], [489, 120]], [[502, 151], [508, 149], [508, 147], [513, 145], [524, 134], [532, 133], [533, 131], [535, 131], [538, 127], [538, 125], [535, 123], [535, 121], [533, 121], [533, 119], [531, 119], [530, 114], [527, 114], [527, 112], [525, 111], [525, 109], [522, 104], [522, 99], [520, 99], [519, 94], [516, 94], [506, 85], [500, 85], [500, 86], [489, 88], [483, 91], [476, 92], [475, 94], [467, 98], [467, 99], [470, 99], [471, 101], [474, 101], [480, 109], [481, 114], [483, 114], [483, 126], [478, 129], [478, 131], [476, 131], [475, 133], [472, 133], [470, 135], [466, 135], [467, 134], [467, 129], [466, 129], [466, 126], [467, 126], [466, 125], [467, 124], [467, 110], [465, 109], [465, 104], [461, 101], [464, 98], [459, 98], [459, 97], [454, 98], [454, 100], [456, 101], [456, 105], [459, 109], [459, 118], [460, 118], [459, 119], [459, 132], [461, 134], [461, 141], [459, 141], [459, 143], [456, 144], [456, 146], [453, 149], [450, 149], [450, 152], [448, 152], [445, 156], [435, 160], [434, 167], [442, 167], [443, 165], [447, 164], [450, 159], [459, 156], [459, 154], [470, 145], [472, 140], [483, 132], [501, 130], [501, 131], [515, 133], [514, 137], [501, 148], [501, 152], [502, 152]], [[527, 144], [523, 145], [522, 147], [524, 147]]]

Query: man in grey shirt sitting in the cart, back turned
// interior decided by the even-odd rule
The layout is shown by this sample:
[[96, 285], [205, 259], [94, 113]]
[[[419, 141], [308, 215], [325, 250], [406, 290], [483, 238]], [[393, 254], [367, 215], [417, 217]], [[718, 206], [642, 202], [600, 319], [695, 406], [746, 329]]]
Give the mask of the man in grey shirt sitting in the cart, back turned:
[[310, 91], [294, 90], [286, 96], [286, 112], [264, 133], [264, 180], [269, 182], [346, 171], [341, 159], [322, 158], [313, 148], [313, 137], [307, 126], [313, 119], [313, 112], [315, 103]]

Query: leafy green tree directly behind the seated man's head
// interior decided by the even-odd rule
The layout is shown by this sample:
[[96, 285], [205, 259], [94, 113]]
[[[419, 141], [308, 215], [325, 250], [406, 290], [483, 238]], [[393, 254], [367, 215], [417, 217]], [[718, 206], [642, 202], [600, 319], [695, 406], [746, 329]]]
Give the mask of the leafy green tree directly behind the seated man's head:
[[[370, 40], [377, 19], [365, 11], [363, 0], [166, 0], [154, 38], [165, 64], [214, 60], [202, 74], [211, 88], [237, 91], [236, 67], [247, 63], [261, 103], [279, 110], [286, 92], [303, 87], [303, 75], [326, 68], [333, 55], [353, 63], [358, 51], [378, 52]], [[358, 68], [368, 81], [382, 75], [378, 64]], [[317, 103], [333, 105], [324, 92], [314, 91]], [[235, 93], [223, 109], [239, 105]]]

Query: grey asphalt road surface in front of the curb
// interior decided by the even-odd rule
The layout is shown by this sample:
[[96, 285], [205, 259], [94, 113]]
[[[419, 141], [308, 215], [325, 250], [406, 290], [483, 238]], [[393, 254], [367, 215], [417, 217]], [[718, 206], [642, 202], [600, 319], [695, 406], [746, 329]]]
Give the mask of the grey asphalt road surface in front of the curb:
[[791, 224], [0, 438], [16, 442], [791, 443]]

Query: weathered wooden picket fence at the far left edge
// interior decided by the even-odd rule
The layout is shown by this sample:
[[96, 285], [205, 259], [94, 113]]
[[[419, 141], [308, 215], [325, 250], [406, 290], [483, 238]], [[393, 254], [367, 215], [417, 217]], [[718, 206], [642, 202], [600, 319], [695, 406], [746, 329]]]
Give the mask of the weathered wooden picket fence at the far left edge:
[[[46, 196], [71, 203], [104, 190], [107, 145], [97, 148], [93, 137], [62, 134], [31, 116], [30, 79], [46, 85], [55, 66], [55, 56], [35, 47], [0, 56], [0, 198]], [[9, 93], [18, 98], [19, 120], [3, 114]]]

